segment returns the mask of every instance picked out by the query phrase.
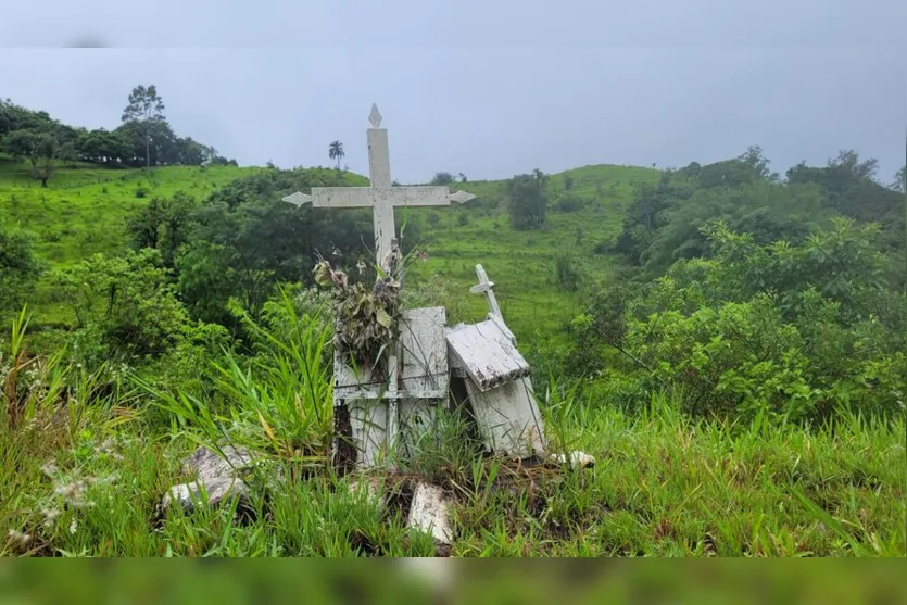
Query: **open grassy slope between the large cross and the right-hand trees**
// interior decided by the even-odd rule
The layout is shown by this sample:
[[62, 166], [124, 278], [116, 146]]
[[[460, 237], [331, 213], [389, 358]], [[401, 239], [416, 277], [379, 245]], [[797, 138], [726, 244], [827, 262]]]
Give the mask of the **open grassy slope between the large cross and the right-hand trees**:
[[[521, 340], [549, 339], [579, 311], [582, 285], [605, 279], [615, 266], [612, 255], [596, 254], [596, 244], [620, 232], [623, 212], [634, 187], [654, 182], [658, 172], [625, 166], [585, 166], [551, 175], [547, 225], [541, 230], [511, 228], [506, 214], [505, 181], [455, 184], [479, 197], [478, 207], [412, 210], [424, 222], [423, 238], [429, 252], [411, 273], [416, 283], [436, 274], [455, 285], [449, 304], [452, 320], [474, 320], [488, 312], [484, 297], [468, 294], [476, 283], [475, 265], [481, 263], [495, 283], [505, 319]], [[572, 179], [570, 189], [567, 179]], [[562, 201], [570, 199], [575, 210]], [[489, 207], [492, 206], [492, 207]], [[568, 207], [570, 211], [565, 211]], [[432, 226], [429, 216], [437, 212]], [[405, 235], [405, 234], [404, 234]], [[560, 288], [556, 261], [568, 255], [580, 275], [580, 289]]]

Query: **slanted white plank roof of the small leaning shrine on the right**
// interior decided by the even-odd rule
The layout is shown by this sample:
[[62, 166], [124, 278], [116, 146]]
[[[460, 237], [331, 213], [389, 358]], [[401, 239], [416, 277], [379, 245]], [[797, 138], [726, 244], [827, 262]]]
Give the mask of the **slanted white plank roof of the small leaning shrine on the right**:
[[448, 348], [451, 364], [465, 369], [482, 392], [530, 374], [529, 364], [492, 319], [451, 328]]

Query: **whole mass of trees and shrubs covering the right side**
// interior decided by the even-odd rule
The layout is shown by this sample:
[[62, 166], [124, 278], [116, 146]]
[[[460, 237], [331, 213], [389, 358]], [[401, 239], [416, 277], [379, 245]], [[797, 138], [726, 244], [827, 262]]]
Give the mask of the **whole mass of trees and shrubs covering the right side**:
[[565, 373], [628, 409], [667, 391], [708, 417], [903, 416], [903, 180], [852, 151], [768, 165], [751, 148], [638, 188], [596, 250], [627, 264], [588, 288]]

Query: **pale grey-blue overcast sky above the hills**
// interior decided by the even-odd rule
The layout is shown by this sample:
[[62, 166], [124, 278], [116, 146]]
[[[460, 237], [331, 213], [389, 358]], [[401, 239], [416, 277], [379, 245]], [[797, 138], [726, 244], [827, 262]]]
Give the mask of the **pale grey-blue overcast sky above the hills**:
[[[782, 173], [856, 149], [889, 182], [905, 24], [903, 0], [9, 1], [0, 97], [113, 128], [155, 84], [177, 134], [242, 165], [330, 165], [340, 139], [363, 174], [374, 101], [403, 182], [679, 167], [748, 144]], [[59, 48], [78, 43], [113, 48]]]

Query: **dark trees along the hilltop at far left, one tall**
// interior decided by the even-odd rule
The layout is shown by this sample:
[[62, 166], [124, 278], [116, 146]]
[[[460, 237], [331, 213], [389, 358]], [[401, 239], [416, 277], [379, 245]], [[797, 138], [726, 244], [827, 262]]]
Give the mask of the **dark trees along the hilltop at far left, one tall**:
[[30, 165], [32, 176], [47, 187], [54, 169], [76, 162], [109, 167], [232, 164], [211, 146], [174, 133], [154, 85], [136, 86], [113, 130], [75, 128], [0, 100], [0, 150]]

